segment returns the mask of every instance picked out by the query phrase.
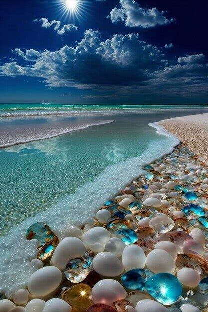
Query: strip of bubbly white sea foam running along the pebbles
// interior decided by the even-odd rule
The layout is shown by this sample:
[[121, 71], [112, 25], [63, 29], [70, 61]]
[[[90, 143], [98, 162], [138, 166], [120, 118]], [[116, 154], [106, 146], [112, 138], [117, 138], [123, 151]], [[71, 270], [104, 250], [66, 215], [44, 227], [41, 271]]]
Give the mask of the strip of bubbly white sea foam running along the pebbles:
[[29, 276], [37, 270], [30, 263], [37, 255], [36, 243], [25, 238], [26, 230], [31, 224], [45, 222], [62, 239], [68, 226], [87, 223], [106, 200], [116, 195], [128, 181], [144, 172], [142, 167], [145, 164], [171, 153], [178, 143], [179, 140], [173, 136], [166, 140], [160, 140], [159, 136], [141, 156], [108, 166], [76, 194], [64, 196], [49, 210], [25, 220], [5, 237], [1, 237], [0, 293], [4, 292], [12, 298], [16, 290], [27, 286]]

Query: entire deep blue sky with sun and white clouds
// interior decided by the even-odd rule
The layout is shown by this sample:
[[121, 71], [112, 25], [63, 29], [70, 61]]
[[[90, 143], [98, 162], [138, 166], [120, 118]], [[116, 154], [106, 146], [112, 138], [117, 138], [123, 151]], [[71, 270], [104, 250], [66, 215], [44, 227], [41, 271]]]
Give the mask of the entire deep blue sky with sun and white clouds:
[[208, 103], [208, 0], [1, 0], [0, 11], [1, 103]]

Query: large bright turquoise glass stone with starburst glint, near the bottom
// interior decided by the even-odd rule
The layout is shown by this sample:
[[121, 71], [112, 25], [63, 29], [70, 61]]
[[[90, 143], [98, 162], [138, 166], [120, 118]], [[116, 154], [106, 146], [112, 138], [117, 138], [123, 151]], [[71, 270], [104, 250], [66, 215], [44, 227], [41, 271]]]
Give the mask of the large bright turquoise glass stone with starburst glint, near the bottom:
[[145, 283], [146, 290], [163, 305], [171, 305], [182, 294], [183, 287], [179, 280], [170, 273], [158, 273]]

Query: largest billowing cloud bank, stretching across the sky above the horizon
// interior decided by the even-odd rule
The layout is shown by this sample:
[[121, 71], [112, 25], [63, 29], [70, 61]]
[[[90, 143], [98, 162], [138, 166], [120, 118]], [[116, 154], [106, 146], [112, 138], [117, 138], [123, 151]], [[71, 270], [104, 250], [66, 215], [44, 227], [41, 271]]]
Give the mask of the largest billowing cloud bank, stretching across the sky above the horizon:
[[20, 66], [17, 61], [5, 63], [0, 66], [0, 75], [36, 77], [47, 87], [91, 89], [122, 96], [165, 92], [191, 96], [197, 88], [201, 93], [208, 91], [208, 64], [204, 55], [176, 60], [140, 40], [138, 34], [115, 34], [103, 41], [99, 31], [89, 29], [74, 47], [13, 52], [25, 65]]

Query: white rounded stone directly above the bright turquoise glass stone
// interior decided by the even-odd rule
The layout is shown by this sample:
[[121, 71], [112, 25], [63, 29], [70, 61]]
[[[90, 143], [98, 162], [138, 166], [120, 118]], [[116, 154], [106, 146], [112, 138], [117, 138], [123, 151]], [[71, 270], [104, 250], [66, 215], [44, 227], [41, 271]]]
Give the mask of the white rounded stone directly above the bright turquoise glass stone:
[[176, 268], [173, 258], [162, 249], [152, 250], [147, 255], [146, 265], [154, 273], [173, 273]]

